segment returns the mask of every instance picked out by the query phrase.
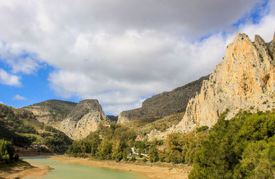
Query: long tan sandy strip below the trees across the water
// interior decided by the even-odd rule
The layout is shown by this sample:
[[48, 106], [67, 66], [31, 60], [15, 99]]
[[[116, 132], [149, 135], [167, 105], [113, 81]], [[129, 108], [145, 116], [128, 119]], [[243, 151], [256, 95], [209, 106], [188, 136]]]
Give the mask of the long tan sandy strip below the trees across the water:
[[[76, 163], [80, 165], [88, 165], [94, 167], [105, 167], [121, 171], [131, 171], [137, 174], [142, 174], [153, 179], [185, 179], [192, 167], [187, 165], [170, 165], [170, 164], [153, 164], [146, 163], [137, 165], [137, 163], [116, 163], [112, 160], [91, 160], [88, 158], [74, 158], [68, 156], [54, 156], [50, 158], [64, 163]], [[162, 165], [162, 166], [161, 166]]]

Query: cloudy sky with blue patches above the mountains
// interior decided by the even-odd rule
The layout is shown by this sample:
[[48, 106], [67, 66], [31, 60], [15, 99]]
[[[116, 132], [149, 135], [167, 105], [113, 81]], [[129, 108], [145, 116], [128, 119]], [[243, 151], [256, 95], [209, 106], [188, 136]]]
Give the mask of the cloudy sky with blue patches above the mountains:
[[237, 33], [270, 42], [275, 0], [0, 0], [0, 103], [105, 113], [212, 72]]

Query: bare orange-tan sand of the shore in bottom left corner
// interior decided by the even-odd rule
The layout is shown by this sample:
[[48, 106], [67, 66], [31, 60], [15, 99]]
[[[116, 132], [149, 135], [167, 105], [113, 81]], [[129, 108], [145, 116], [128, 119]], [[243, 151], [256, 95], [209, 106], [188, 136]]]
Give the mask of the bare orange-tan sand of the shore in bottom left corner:
[[48, 166], [32, 165], [28, 169], [22, 169], [20, 167], [13, 167], [6, 171], [1, 171], [0, 178], [14, 179], [14, 178], [42, 178], [51, 171], [52, 168]]

